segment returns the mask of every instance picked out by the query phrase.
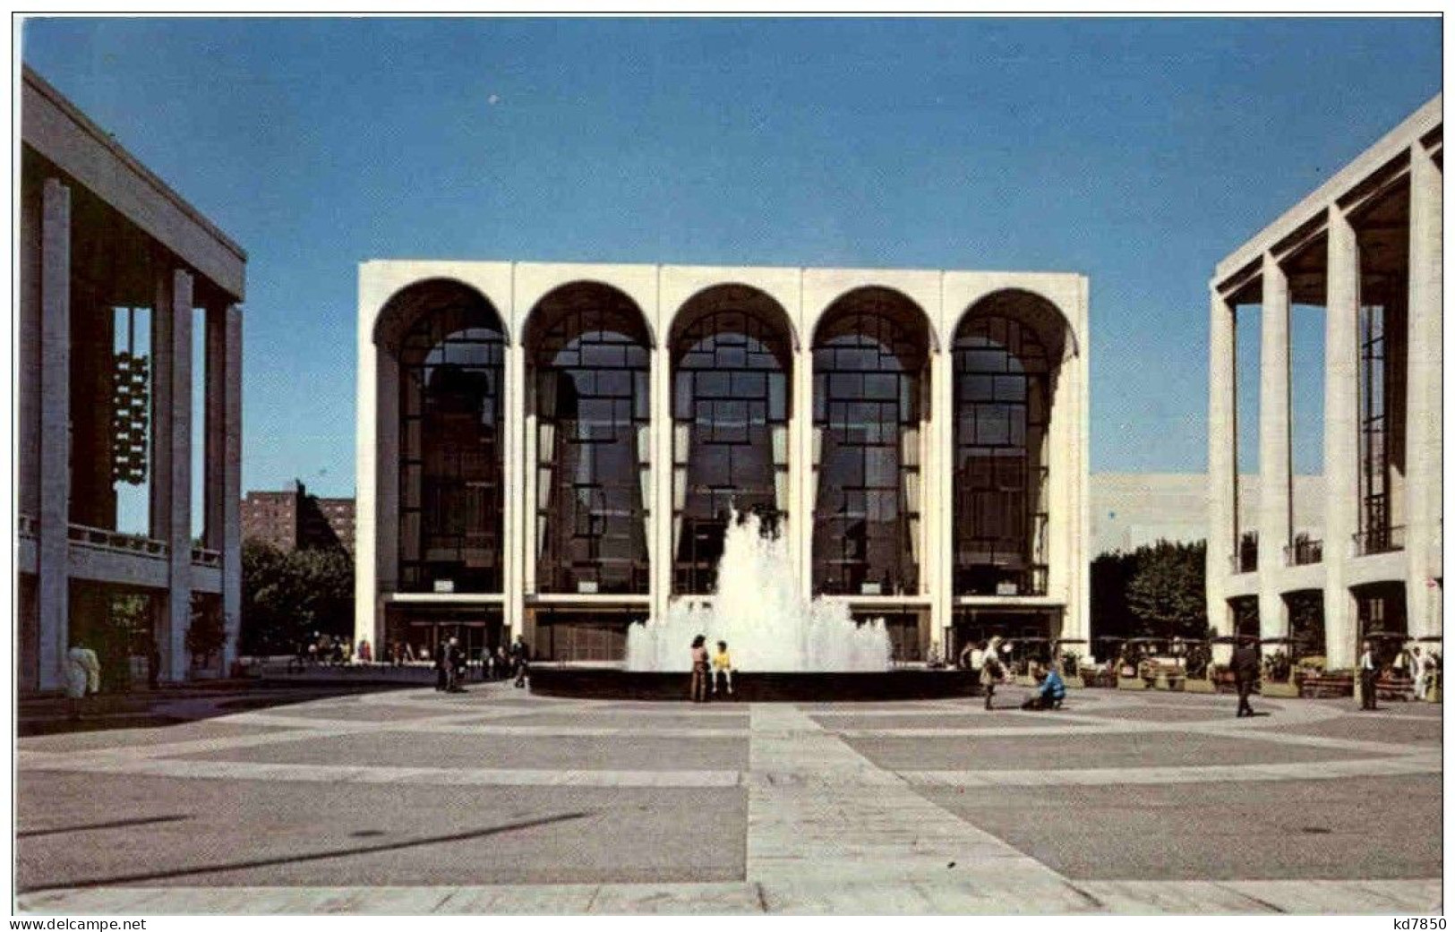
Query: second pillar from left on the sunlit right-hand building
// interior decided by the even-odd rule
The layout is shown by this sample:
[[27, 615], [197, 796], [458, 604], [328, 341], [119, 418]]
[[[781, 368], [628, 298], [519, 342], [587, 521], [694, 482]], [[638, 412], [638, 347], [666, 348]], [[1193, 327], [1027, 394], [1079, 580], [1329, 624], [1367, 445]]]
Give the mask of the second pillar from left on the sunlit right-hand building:
[[[1273, 256], [1263, 256], [1263, 337], [1259, 358], [1259, 634], [1288, 637], [1279, 589], [1283, 548], [1293, 542], [1289, 452], [1289, 289]], [[1273, 653], [1275, 646], [1267, 646]]]

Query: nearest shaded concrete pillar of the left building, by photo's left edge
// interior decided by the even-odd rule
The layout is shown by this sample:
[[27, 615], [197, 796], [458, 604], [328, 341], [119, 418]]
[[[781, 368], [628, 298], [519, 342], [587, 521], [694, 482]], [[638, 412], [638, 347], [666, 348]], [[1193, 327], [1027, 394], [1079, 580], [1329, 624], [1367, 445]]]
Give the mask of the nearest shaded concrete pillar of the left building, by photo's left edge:
[[47, 179], [41, 205], [41, 457], [36, 539], [39, 688], [65, 683], [70, 647], [71, 192]]

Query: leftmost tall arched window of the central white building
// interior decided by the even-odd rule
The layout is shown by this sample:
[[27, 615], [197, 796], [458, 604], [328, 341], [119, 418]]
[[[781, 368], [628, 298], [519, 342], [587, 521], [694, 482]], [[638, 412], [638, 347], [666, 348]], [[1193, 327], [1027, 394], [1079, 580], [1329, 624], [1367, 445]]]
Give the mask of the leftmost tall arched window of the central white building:
[[501, 592], [501, 318], [483, 301], [423, 311], [399, 366], [400, 590]]

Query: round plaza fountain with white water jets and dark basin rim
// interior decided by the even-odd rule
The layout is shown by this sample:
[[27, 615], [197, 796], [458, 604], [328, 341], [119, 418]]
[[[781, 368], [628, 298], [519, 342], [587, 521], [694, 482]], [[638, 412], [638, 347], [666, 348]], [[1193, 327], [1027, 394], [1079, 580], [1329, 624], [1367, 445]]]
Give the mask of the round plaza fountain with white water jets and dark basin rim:
[[681, 598], [665, 618], [627, 632], [626, 667], [537, 664], [531, 689], [547, 695], [685, 699], [690, 646], [726, 641], [738, 699], [892, 699], [968, 695], [954, 670], [895, 670], [883, 619], [856, 622], [842, 600], [808, 599], [787, 541], [757, 515], [733, 515], [717, 563], [717, 592]]

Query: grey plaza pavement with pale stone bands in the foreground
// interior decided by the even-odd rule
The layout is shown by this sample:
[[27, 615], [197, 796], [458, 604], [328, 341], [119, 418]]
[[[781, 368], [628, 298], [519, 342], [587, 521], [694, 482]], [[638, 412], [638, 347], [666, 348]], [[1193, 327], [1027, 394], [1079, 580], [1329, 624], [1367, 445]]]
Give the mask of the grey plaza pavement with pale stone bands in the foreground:
[[298, 698], [189, 698], [159, 710], [182, 724], [20, 739], [17, 909], [1442, 907], [1438, 705], [1264, 699], [1237, 720], [1232, 698], [1160, 692], [985, 712], [508, 683]]

